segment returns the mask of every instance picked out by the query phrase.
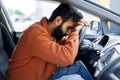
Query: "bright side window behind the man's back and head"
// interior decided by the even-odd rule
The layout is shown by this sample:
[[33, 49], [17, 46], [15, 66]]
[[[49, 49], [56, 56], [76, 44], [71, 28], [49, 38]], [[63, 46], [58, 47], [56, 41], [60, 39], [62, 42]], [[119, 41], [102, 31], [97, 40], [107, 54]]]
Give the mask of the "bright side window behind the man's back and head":
[[24, 31], [29, 25], [39, 21], [44, 16], [49, 18], [52, 11], [59, 5], [57, 2], [44, 0], [11, 0], [11, 2], [2, 0], [2, 2], [16, 32]]

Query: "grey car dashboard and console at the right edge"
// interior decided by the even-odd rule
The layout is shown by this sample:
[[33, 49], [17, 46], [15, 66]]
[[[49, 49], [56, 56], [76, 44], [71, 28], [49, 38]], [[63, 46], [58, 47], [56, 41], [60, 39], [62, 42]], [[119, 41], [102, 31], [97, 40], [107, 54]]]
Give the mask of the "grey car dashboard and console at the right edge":
[[120, 80], [120, 36], [105, 35], [98, 44], [103, 46], [95, 63], [96, 80]]

